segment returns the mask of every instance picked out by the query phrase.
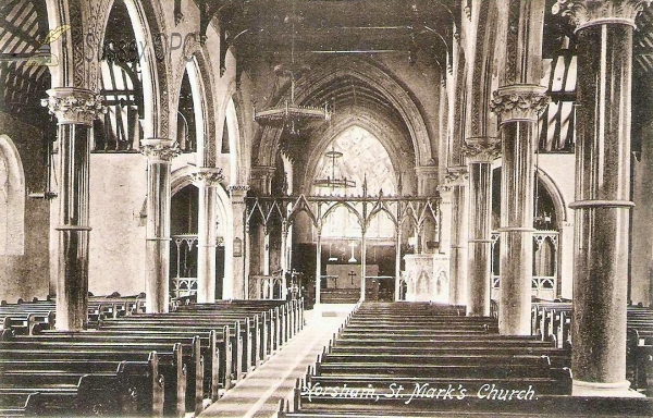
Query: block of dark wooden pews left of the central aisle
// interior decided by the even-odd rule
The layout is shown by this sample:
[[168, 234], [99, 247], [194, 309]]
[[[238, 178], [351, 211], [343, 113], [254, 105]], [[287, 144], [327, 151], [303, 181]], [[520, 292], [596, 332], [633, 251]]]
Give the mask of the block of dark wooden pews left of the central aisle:
[[304, 324], [301, 300], [224, 300], [0, 341], [2, 416], [199, 414]]

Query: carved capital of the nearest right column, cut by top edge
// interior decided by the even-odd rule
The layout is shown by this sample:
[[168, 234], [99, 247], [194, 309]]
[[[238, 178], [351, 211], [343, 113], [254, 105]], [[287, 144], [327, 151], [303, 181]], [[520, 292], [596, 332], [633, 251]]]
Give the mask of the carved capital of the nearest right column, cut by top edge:
[[609, 23], [634, 27], [638, 13], [649, 4], [651, 0], [557, 0], [551, 12], [569, 17], [576, 30]]

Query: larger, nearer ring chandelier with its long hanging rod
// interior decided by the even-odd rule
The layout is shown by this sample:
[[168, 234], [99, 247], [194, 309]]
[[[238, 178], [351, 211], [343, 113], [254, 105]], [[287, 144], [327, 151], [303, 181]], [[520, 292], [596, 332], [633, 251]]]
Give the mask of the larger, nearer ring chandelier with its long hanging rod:
[[295, 81], [303, 73], [310, 70], [306, 64], [295, 63], [295, 23], [299, 16], [295, 13], [295, 2], [293, 2], [293, 12], [286, 16], [285, 22], [292, 23], [291, 34], [291, 63], [279, 64], [274, 67], [276, 77], [288, 77], [291, 79], [291, 98], [286, 99], [281, 106], [268, 108], [261, 111], [254, 109], [254, 120], [261, 125], [285, 127], [291, 135], [299, 134], [299, 124], [306, 120], [331, 120], [329, 106], [324, 103], [323, 108], [299, 106], [295, 103]]

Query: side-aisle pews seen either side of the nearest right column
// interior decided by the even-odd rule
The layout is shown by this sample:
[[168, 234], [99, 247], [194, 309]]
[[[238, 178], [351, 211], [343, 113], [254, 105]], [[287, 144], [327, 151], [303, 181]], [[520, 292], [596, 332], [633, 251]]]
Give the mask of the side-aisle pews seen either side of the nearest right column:
[[[532, 305], [532, 334], [558, 347], [571, 347], [569, 302], [540, 302]], [[629, 306], [627, 310], [627, 371], [631, 389], [653, 396], [653, 309]]]

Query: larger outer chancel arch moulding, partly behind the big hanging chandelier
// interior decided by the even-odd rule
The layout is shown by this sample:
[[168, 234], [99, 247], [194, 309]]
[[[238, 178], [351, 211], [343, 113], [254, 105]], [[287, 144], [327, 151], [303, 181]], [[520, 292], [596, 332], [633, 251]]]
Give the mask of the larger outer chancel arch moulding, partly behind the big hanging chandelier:
[[[295, 97], [296, 101], [299, 103], [304, 102], [315, 91], [328, 88], [334, 79], [341, 77], [356, 77], [380, 91], [394, 107], [408, 127], [417, 161], [419, 163], [427, 163], [432, 158], [429, 131], [415, 100], [387, 72], [367, 60], [354, 59], [346, 63], [331, 61], [328, 65], [309, 73], [309, 76], [299, 79], [297, 83], [296, 91], [299, 94]], [[280, 98], [279, 102], [288, 96], [289, 91], [286, 91], [284, 97]], [[259, 156], [273, 152], [273, 144], [270, 144], [270, 137], [261, 138]]]

